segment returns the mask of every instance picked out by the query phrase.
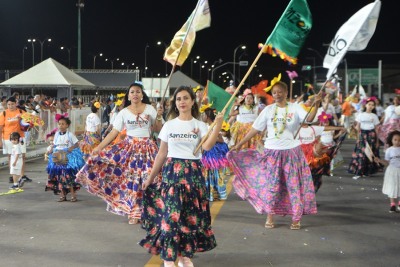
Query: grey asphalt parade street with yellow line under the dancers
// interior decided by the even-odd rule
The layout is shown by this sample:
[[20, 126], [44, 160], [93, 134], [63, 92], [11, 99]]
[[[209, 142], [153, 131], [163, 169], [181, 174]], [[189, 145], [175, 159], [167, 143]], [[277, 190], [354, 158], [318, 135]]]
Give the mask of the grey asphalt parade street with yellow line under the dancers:
[[[300, 230], [289, 229], [290, 216], [277, 216], [274, 229], [264, 228], [266, 216], [234, 190], [227, 201], [212, 203], [218, 246], [196, 253], [194, 265], [400, 266], [400, 213], [389, 213], [383, 172], [358, 180], [346, 172], [353, 148], [354, 140], [346, 140], [346, 163], [333, 177], [324, 176], [318, 214], [303, 216]], [[145, 236], [140, 226], [107, 212], [100, 198], [81, 189], [77, 202], [57, 202], [44, 190], [45, 168], [42, 157], [32, 158], [26, 174], [33, 182], [24, 192], [0, 196], [0, 266], [162, 265], [137, 244]], [[0, 192], [8, 191], [8, 173], [0, 169]]]

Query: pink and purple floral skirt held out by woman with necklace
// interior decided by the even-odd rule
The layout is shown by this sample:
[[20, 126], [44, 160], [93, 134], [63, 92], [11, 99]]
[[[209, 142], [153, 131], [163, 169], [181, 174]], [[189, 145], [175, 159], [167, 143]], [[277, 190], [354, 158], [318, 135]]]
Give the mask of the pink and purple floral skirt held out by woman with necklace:
[[260, 214], [291, 214], [294, 221], [303, 214], [317, 213], [310, 168], [300, 146], [287, 150], [245, 149], [231, 151], [236, 193]]

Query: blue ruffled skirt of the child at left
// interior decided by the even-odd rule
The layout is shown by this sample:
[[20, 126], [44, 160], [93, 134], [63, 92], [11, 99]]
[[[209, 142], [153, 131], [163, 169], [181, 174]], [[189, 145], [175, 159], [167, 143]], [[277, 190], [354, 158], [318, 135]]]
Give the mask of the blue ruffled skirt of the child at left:
[[46, 188], [53, 190], [69, 190], [73, 187], [79, 190], [80, 184], [75, 182], [75, 176], [85, 164], [83, 154], [79, 148], [75, 148], [67, 154], [67, 164], [56, 164], [53, 162], [52, 154], [48, 157], [46, 171], [49, 174]]

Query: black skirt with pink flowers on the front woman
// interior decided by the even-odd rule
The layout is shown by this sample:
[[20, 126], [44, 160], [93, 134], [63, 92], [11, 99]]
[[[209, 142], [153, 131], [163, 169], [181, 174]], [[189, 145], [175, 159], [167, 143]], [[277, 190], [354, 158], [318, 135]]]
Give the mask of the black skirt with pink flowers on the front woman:
[[217, 246], [201, 169], [200, 160], [168, 158], [160, 188], [147, 189], [142, 216], [147, 235], [139, 245], [150, 253], [175, 261]]

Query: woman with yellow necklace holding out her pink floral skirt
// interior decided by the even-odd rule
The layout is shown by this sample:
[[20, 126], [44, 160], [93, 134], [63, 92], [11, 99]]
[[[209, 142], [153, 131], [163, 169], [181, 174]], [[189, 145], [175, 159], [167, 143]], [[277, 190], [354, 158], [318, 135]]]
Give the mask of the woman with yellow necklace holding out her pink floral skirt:
[[[300, 141], [294, 135], [307, 112], [296, 103], [286, 101], [287, 85], [272, 84], [275, 103], [267, 106], [253, 123], [252, 129], [233, 151], [228, 160], [233, 165], [236, 193], [246, 199], [258, 213], [268, 214], [266, 228], [274, 228], [273, 215], [292, 215], [291, 229], [300, 229], [303, 214], [317, 213], [315, 191], [310, 168]], [[314, 97], [320, 102], [321, 97]], [[312, 109], [307, 122], [316, 114]], [[264, 150], [237, 150], [254, 135], [267, 129]]]

